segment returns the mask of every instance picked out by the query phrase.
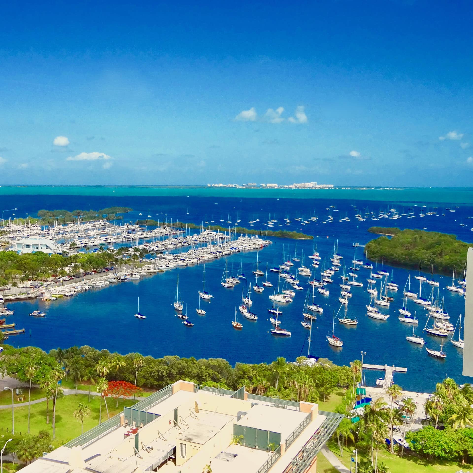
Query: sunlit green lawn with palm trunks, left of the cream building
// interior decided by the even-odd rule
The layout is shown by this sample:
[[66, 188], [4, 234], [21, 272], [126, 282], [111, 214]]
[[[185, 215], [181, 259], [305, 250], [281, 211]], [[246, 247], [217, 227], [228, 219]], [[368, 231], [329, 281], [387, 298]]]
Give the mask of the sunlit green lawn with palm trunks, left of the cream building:
[[[90, 407], [91, 415], [84, 419], [84, 432], [98, 424], [98, 412], [100, 406], [100, 397], [90, 397], [88, 402], [87, 394], [78, 394], [64, 396], [59, 399], [56, 406], [56, 439], [64, 443], [80, 435], [80, 422], [73, 416], [79, 402], [86, 403]], [[131, 399], [120, 399], [118, 409], [115, 408], [115, 400], [107, 398], [108, 411], [110, 417], [123, 411], [124, 406], [131, 406], [134, 401]], [[47, 430], [53, 434], [53, 403], [50, 401], [50, 423], [46, 424], [46, 402], [31, 405], [30, 430], [32, 434], [37, 434], [40, 430]], [[107, 419], [105, 403], [102, 401], [102, 420]], [[15, 409], [15, 433], [25, 434], [28, 425], [28, 406]], [[1, 430], [11, 429], [11, 410], [0, 410], [0, 435]]]

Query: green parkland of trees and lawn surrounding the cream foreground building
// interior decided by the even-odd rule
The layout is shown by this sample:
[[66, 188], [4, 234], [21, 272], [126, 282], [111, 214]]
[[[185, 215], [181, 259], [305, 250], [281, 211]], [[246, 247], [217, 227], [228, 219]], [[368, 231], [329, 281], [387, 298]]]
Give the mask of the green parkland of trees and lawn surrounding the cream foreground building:
[[[469, 428], [473, 425], [473, 388], [469, 384], [460, 388], [451, 378], [437, 384], [425, 404], [423, 427], [411, 431], [412, 424], [405, 419], [416, 411], [415, 400], [404, 397], [399, 385], [392, 385], [385, 397], [366, 404], [359, 420], [350, 420], [357, 394], [353, 386], [361, 377], [359, 360], [350, 366], [337, 366], [328, 359], [307, 365], [305, 357], [296, 363], [280, 357], [270, 364], [236, 363], [232, 367], [225, 359], [156, 359], [90, 346], [58, 348], [49, 353], [36, 347], [3, 348], [0, 371], [27, 384], [23, 404], [15, 408], [13, 441], [6, 447], [6, 453], [23, 464], [122, 412], [124, 406], [136, 402], [132, 396], [141, 399], [185, 379], [230, 390], [245, 386], [248, 393], [316, 402], [320, 410], [344, 414], [327, 447], [348, 468], [356, 448], [360, 473], [447, 473], [460, 468], [468, 471], [473, 466], [473, 429]], [[402, 403], [394, 403], [400, 399]], [[0, 404], [9, 403], [10, 391], [0, 393]], [[9, 409], [0, 410], [0, 425], [9, 435]], [[409, 448], [394, 446], [394, 442], [393, 447], [386, 445], [385, 438], [391, 439], [394, 430], [401, 432]], [[6, 472], [20, 467], [4, 464]], [[337, 471], [322, 452], [317, 470]]]

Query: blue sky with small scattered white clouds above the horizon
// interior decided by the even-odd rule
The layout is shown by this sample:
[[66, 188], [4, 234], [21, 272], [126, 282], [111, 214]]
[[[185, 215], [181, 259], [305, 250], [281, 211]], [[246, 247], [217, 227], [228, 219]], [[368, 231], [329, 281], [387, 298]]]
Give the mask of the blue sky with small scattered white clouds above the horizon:
[[0, 184], [472, 185], [468, 1], [71, 3], [2, 6]]

